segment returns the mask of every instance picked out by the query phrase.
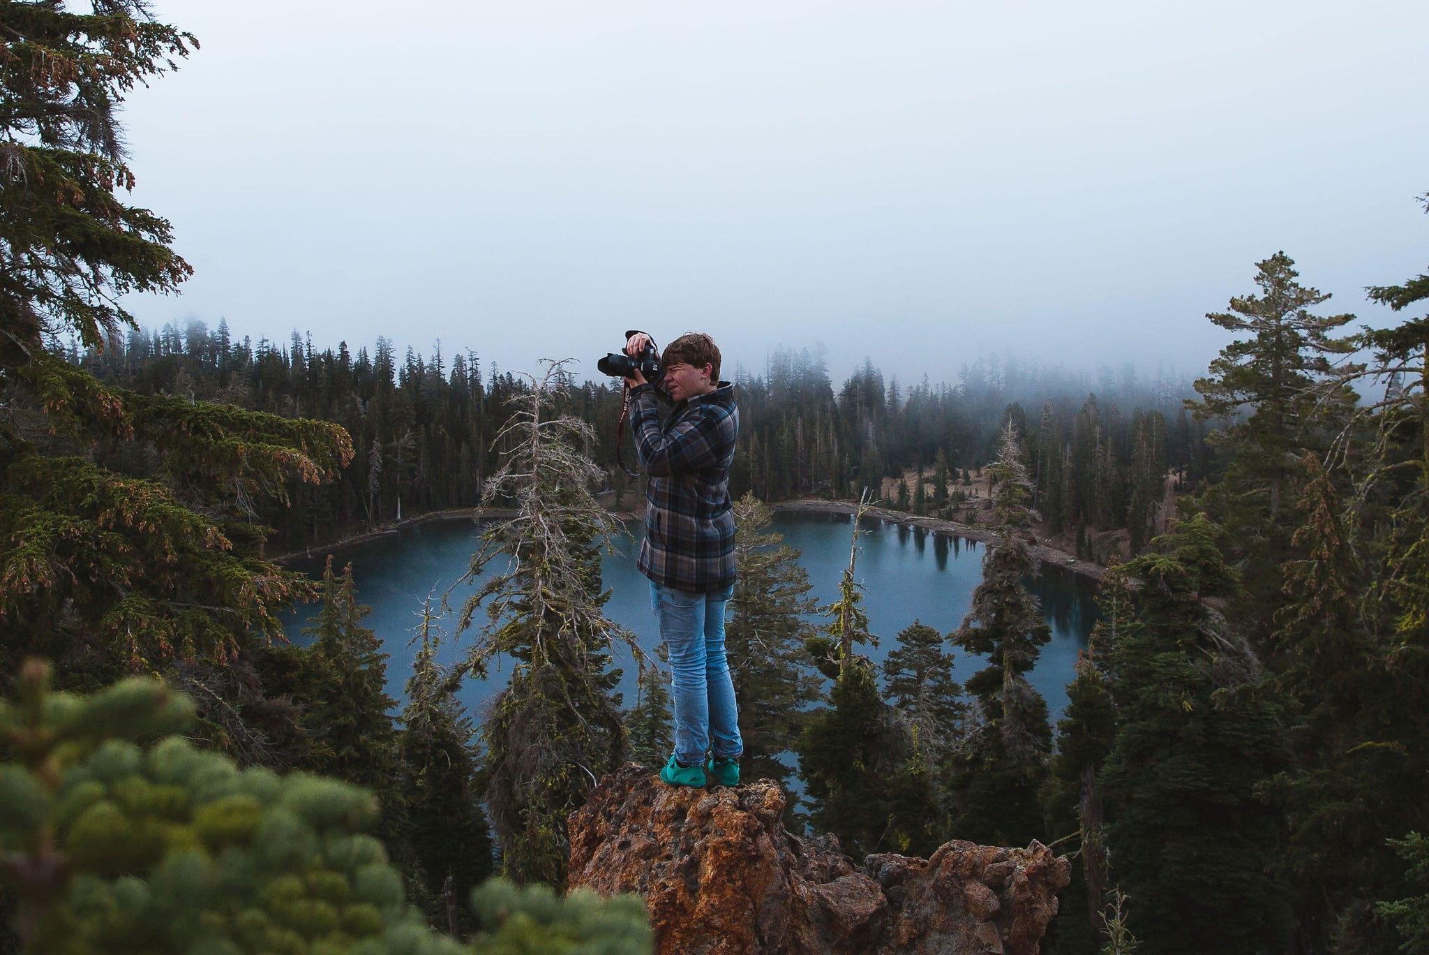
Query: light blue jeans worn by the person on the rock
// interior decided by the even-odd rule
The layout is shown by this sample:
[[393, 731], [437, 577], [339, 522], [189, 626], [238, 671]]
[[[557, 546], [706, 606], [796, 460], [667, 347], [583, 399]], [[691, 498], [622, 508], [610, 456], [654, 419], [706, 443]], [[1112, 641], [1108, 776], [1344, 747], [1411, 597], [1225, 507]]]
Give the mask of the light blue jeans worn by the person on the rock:
[[686, 766], [745, 752], [735, 708], [735, 682], [725, 656], [725, 603], [735, 588], [687, 593], [650, 582], [660, 639], [670, 648], [674, 673], [674, 758]]

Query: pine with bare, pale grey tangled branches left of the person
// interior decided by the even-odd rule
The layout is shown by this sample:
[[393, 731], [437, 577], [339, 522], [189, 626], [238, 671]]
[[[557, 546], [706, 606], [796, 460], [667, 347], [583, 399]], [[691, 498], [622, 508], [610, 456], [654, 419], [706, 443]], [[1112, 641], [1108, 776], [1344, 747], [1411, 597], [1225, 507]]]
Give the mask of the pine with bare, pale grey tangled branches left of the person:
[[584, 453], [592, 427], [549, 416], [567, 387], [563, 363], [550, 363], [497, 435], [510, 452], [482, 500], [507, 503], [516, 516], [483, 533], [470, 576], [497, 558], [506, 566], [466, 602], [459, 622], [466, 630], [486, 605], [467, 671], [484, 675], [497, 653], [516, 660], [482, 723], [504, 872], [557, 888], [566, 881], [566, 818], [626, 749], [609, 649], [623, 640], [644, 659], [634, 635], [602, 613], [610, 592], [600, 586], [599, 542], [613, 523], [590, 492], [602, 478]]

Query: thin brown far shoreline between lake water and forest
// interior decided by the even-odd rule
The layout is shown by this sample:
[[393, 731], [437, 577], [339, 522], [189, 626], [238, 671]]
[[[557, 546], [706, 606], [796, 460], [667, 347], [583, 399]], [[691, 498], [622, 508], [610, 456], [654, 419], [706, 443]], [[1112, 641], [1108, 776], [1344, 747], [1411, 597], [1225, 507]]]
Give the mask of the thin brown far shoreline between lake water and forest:
[[[839, 515], [853, 515], [857, 512], [857, 502], [850, 500], [827, 500], [825, 498], [802, 498], [799, 500], [779, 500], [769, 505], [773, 512], [789, 512], [789, 513], [839, 513]], [[906, 510], [890, 510], [887, 508], [869, 508], [866, 512], [870, 518], [877, 518], [885, 523], [900, 525], [905, 528], [917, 528], [922, 530], [932, 530], [933, 533], [946, 533], [957, 538], [966, 538], [967, 540], [977, 540], [980, 543], [992, 543], [997, 539], [987, 528], [979, 528], [976, 525], [962, 523], [959, 520], [943, 520], [942, 518], [927, 518], [910, 515]], [[273, 563], [284, 565], [294, 560], [312, 560], [314, 556], [323, 556], [324, 553], [336, 555], [342, 550], [347, 550], [372, 540], [380, 540], [382, 538], [390, 538], [402, 533], [403, 528], [412, 528], [414, 525], [423, 523], [442, 523], [447, 520], [477, 520], [479, 518], [514, 518], [514, 510], [507, 509], [482, 509], [482, 508], [452, 508], [447, 510], [429, 510], [427, 513], [417, 515], [416, 518], [409, 518], [400, 523], [387, 523], [374, 530], [366, 530], [359, 535], [352, 535], [349, 538], [342, 538], [332, 543], [324, 543], [313, 548], [306, 548], [303, 550], [292, 550], [287, 553], [270, 558]], [[612, 518], [639, 520], [642, 515], [636, 510], [612, 510]], [[1050, 546], [1049, 543], [1033, 543], [1030, 546], [1032, 556], [1035, 556], [1042, 563], [1050, 563], [1070, 573], [1076, 573], [1085, 578], [1092, 578], [1093, 580], [1102, 579], [1103, 568], [1100, 565], [1092, 563], [1090, 560], [1079, 560], [1076, 556]]]

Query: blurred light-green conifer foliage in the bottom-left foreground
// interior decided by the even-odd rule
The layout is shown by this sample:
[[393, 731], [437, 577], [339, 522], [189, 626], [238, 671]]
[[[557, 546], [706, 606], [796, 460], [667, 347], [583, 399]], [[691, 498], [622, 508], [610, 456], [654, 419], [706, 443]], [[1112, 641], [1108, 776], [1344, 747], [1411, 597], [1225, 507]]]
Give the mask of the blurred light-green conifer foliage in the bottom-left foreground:
[[[647, 952], [639, 899], [489, 885], [464, 946], [407, 908], [357, 786], [240, 771], [177, 731], [193, 706], [130, 678], [90, 698], [30, 662], [0, 702], [0, 858], [27, 952]], [[149, 745], [151, 742], [151, 745]]]

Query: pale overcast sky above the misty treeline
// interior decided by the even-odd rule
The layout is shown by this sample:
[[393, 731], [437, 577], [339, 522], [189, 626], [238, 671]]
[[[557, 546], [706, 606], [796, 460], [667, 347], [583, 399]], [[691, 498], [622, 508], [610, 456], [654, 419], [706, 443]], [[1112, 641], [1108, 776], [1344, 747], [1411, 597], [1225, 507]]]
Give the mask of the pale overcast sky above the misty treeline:
[[1429, 262], [1422, 0], [153, 6], [203, 49], [126, 110], [196, 269], [149, 326], [1198, 372], [1276, 250], [1379, 323]]

